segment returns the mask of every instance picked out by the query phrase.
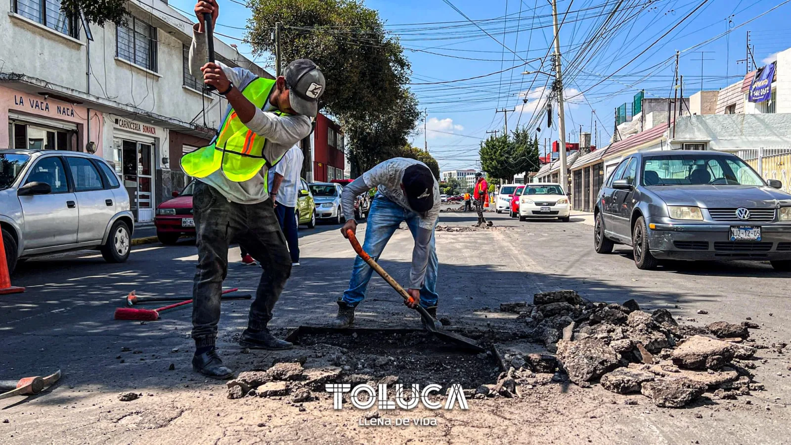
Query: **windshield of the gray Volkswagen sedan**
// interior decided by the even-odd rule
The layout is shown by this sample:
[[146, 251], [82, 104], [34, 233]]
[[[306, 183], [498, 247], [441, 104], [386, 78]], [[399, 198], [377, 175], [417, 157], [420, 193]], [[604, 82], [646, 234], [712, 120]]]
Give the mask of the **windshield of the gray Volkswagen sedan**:
[[641, 183], [662, 185], [758, 185], [763, 179], [736, 156], [667, 154], [643, 159]]

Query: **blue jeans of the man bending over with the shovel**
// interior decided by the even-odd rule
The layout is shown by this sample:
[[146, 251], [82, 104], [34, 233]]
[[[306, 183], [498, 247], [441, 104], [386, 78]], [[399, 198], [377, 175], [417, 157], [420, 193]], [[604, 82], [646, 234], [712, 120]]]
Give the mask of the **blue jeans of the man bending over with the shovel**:
[[[379, 261], [379, 257], [388, 244], [390, 237], [398, 230], [401, 222], [406, 221], [412, 237], [417, 234], [420, 217], [414, 211], [405, 209], [388, 200], [383, 195], [377, 194], [371, 203], [368, 223], [365, 226], [365, 242], [362, 249], [367, 252], [374, 261]], [[431, 237], [429, 264], [426, 268], [426, 278], [423, 280], [423, 287], [420, 288], [420, 306], [437, 306], [437, 250], [435, 249], [434, 237]], [[361, 257], [354, 259], [354, 268], [349, 280], [349, 289], [343, 292], [343, 302], [349, 306], [357, 306], [365, 299], [365, 289], [371, 280], [373, 269], [362, 261]]]

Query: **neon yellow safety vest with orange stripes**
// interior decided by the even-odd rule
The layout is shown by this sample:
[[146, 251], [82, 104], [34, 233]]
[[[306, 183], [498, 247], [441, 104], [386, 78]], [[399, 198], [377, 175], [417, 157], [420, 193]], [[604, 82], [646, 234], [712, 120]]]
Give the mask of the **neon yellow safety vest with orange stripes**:
[[[273, 79], [256, 78], [244, 87], [242, 95], [247, 97], [256, 108], [263, 108], [274, 88]], [[277, 112], [283, 116], [285, 113]], [[181, 157], [181, 169], [191, 177], [207, 177], [218, 169], [230, 181], [248, 181], [264, 165], [271, 167], [280, 161], [269, 162], [263, 157], [266, 139], [256, 135], [237, 116], [233, 108], [225, 116], [220, 134], [209, 146], [204, 146]], [[266, 180], [266, 178], [264, 178]], [[264, 187], [267, 187], [264, 181]]]

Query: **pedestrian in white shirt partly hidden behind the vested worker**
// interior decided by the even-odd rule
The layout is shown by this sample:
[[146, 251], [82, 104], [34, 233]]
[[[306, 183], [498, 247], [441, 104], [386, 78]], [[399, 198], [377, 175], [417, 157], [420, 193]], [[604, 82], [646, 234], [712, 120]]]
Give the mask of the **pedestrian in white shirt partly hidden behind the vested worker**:
[[[297, 200], [299, 199], [300, 173], [305, 156], [298, 146], [286, 151], [283, 158], [270, 170], [271, 197], [274, 200], [274, 213], [278, 215], [280, 228], [286, 235], [289, 245], [291, 265], [299, 265], [299, 237], [297, 236]], [[274, 172], [274, 173], [273, 173]], [[311, 209], [310, 211], [313, 211]]]

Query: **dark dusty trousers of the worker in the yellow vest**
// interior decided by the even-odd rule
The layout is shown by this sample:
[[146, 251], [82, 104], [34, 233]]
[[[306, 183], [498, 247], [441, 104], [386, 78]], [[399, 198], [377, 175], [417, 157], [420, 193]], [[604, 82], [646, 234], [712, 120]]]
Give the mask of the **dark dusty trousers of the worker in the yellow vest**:
[[192, 195], [195, 211], [195, 245], [198, 270], [192, 284], [192, 338], [195, 346], [214, 345], [220, 321], [222, 280], [228, 275], [228, 245], [241, 240], [263, 267], [255, 300], [250, 305], [248, 327], [261, 330], [272, 318], [283, 286], [291, 274], [286, 238], [274, 215], [272, 201], [232, 203], [215, 188], [200, 181]]

